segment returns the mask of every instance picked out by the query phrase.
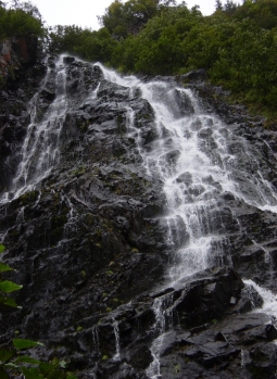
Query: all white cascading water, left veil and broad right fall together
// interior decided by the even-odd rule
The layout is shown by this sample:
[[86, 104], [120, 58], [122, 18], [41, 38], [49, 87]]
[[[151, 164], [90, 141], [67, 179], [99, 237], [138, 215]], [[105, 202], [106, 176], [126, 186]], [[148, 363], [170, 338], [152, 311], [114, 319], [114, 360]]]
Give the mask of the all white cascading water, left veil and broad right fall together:
[[[149, 175], [163, 182], [166, 215], [162, 222], [167, 226], [168, 250], [174, 251], [169, 257], [167, 286], [174, 287], [179, 280], [210, 265], [222, 265], [226, 254], [224, 247], [228, 244], [218, 206], [222, 193], [230, 193], [235, 199], [262, 211], [277, 212], [277, 195], [262, 175], [257, 152], [252, 151], [243, 137], [234, 136], [217, 117], [205, 114], [191, 90], [165, 81], [142, 83], [134, 76], [121, 77], [98, 65], [108, 80], [129, 88], [129, 100], [139, 92], [154, 113], [156, 138], [151, 146], [143, 147], [141, 130], [136, 126], [136, 110], [130, 101], [125, 106], [127, 134], [136, 141], [142, 165]], [[56, 62], [55, 77], [56, 98], [42, 121], [37, 121], [38, 96], [32, 103], [32, 123], [11, 189], [13, 197], [33, 189], [59, 162], [59, 138], [68, 111], [62, 58]], [[101, 79], [84, 97], [84, 101], [97, 99], [100, 89]], [[238, 176], [240, 180], [237, 180]], [[65, 197], [64, 201], [70, 209], [68, 224], [73, 224], [74, 207], [68, 198]], [[24, 210], [18, 217], [24, 217]], [[261, 292], [261, 289], [256, 290]], [[153, 379], [160, 377], [160, 348], [167, 328], [168, 312], [167, 307], [163, 307], [164, 300], [156, 299], [153, 304], [156, 319], [153, 326], [156, 339], [151, 348], [153, 364], [147, 370], [147, 375]], [[267, 308], [264, 311], [267, 312]], [[275, 308], [273, 312], [277, 313]], [[114, 359], [117, 361], [121, 352], [116, 321], [114, 333]], [[97, 345], [97, 333], [93, 338]]]

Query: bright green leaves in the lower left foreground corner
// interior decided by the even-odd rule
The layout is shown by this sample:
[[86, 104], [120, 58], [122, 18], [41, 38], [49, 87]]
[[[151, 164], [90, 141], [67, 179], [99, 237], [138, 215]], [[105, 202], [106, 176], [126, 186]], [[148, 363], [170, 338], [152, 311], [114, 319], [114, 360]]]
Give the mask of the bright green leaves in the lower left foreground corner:
[[[0, 244], [0, 254], [3, 253], [4, 247]], [[12, 271], [13, 269], [0, 263], [0, 273]], [[13, 281], [2, 280], [0, 277], [0, 291], [2, 292], [0, 303], [17, 307], [12, 298], [7, 294], [17, 291], [22, 286]], [[40, 359], [25, 355], [24, 351], [36, 346], [42, 346], [40, 342], [26, 339], [13, 339], [11, 348], [0, 349], [0, 378], [9, 379], [10, 376], [23, 374], [25, 379], [77, 379], [71, 372], [66, 372], [66, 362], [54, 359], [52, 363], [45, 363]]]

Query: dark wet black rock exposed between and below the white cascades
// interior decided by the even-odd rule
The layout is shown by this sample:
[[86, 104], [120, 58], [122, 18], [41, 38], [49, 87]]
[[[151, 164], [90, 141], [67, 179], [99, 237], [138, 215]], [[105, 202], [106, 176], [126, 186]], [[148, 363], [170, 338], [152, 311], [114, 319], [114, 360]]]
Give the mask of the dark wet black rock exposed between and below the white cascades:
[[[59, 64], [64, 65], [60, 74]], [[251, 313], [263, 300], [241, 278], [276, 291], [276, 215], [235, 199], [206, 176], [203, 185], [218, 193], [211, 223], [226, 236], [225, 255], [221, 263], [211, 258], [210, 268], [166, 286], [173, 247], [167, 243], [163, 218], [163, 184], [147, 173], [139, 151], [151, 151], [160, 138], [152, 106], [139, 91], [130, 93], [127, 87], [105, 79], [97, 65], [73, 58], [49, 59], [47, 65], [46, 79], [34, 99], [36, 113], [26, 112], [24, 104], [13, 115], [16, 127], [11, 118], [2, 118], [0, 125], [0, 172], [5, 173], [2, 193], [8, 188], [13, 199], [24, 180], [30, 185], [0, 205], [0, 236], [7, 247], [3, 257], [17, 269], [11, 279], [24, 286], [16, 294], [23, 308], [2, 312], [2, 343], [14, 330], [40, 340], [46, 343], [38, 351], [43, 358], [65, 359], [81, 379], [149, 378], [154, 341], [160, 343], [164, 379], [274, 378], [275, 320]], [[178, 91], [172, 99], [168, 106], [176, 117], [193, 111]], [[203, 101], [211, 111], [213, 102], [206, 97]], [[12, 106], [8, 93], [7, 104]], [[60, 113], [51, 119], [56, 104]], [[140, 146], [128, 130], [129, 109], [140, 130]], [[41, 136], [49, 134], [52, 169], [43, 163], [38, 170], [41, 155], [37, 152], [29, 161], [28, 176], [18, 176], [15, 184], [16, 167], [23, 161], [20, 146], [28, 135], [30, 118], [35, 127], [29, 147], [39, 125], [48, 121]], [[260, 169], [274, 182], [277, 166], [265, 136], [262, 131], [256, 136], [239, 121], [238, 116], [229, 128], [252, 141], [262, 155]], [[59, 136], [51, 131], [52, 126], [60, 130]], [[196, 121], [192, 128], [203, 151], [213, 147], [212, 127], [201, 129]], [[228, 127], [222, 132], [228, 134]], [[9, 150], [12, 140], [18, 143]], [[237, 140], [229, 142], [231, 153], [238, 147]], [[165, 162], [173, 164], [178, 156], [178, 151], [172, 151]], [[7, 167], [13, 168], [7, 173]], [[237, 175], [242, 181], [244, 174]], [[176, 182], [186, 186], [191, 199], [203, 194], [203, 187], [193, 186], [190, 173], [179, 175]], [[178, 220], [175, 228], [174, 236], [181, 230], [179, 245], [186, 245], [186, 226]]]

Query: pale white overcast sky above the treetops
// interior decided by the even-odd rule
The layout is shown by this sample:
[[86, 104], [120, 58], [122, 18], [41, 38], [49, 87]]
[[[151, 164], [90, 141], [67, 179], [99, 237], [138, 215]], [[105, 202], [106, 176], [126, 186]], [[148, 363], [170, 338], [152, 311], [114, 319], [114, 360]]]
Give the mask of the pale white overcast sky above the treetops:
[[[75, 24], [83, 28], [99, 29], [97, 15], [103, 15], [113, 0], [32, 0], [30, 2], [38, 8], [48, 26]], [[178, 0], [177, 2], [180, 3]], [[215, 0], [186, 0], [186, 3], [189, 9], [196, 4], [200, 5], [204, 15], [215, 11]]]

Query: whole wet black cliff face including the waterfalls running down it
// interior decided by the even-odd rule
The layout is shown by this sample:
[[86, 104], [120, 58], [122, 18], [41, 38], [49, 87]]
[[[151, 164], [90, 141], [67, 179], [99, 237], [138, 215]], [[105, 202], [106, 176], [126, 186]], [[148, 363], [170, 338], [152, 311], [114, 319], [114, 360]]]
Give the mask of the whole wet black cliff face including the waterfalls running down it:
[[24, 288], [1, 343], [40, 340], [83, 379], [275, 378], [275, 134], [198, 77], [68, 56], [39, 75], [29, 102], [2, 91], [22, 108], [1, 116], [0, 237]]

